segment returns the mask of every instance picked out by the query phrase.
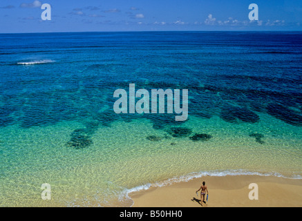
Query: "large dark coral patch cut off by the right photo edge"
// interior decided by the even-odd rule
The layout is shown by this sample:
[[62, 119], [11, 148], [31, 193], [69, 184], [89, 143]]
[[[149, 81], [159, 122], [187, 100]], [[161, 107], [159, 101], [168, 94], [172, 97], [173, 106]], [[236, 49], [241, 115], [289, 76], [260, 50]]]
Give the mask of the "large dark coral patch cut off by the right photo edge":
[[281, 119], [287, 124], [302, 126], [302, 114], [298, 111], [282, 106], [281, 104], [270, 104], [267, 106], [267, 113]]

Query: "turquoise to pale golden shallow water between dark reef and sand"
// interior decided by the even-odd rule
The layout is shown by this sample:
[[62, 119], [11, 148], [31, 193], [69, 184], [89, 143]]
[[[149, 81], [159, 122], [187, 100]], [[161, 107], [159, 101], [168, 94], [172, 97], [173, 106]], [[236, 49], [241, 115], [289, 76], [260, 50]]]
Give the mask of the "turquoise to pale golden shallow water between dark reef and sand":
[[[147, 120], [134, 120], [98, 128], [91, 137], [93, 144], [81, 150], [66, 146], [69, 134], [80, 126], [77, 122], [2, 129], [7, 141], [1, 145], [1, 206], [129, 206], [129, 191], [185, 181], [205, 172], [301, 177], [301, 144], [295, 134], [292, 139], [287, 135], [289, 141], [284, 142], [283, 132], [292, 130], [291, 126], [276, 121], [275, 126], [280, 124], [283, 131], [263, 128], [265, 144], [258, 144], [247, 134], [259, 126], [234, 128], [218, 117], [200, 122], [190, 119], [185, 126], [213, 135], [207, 142], [188, 137], [152, 142], [146, 139], [148, 135], [168, 133], [153, 129]], [[50, 202], [41, 201], [42, 183], [52, 186]]]

